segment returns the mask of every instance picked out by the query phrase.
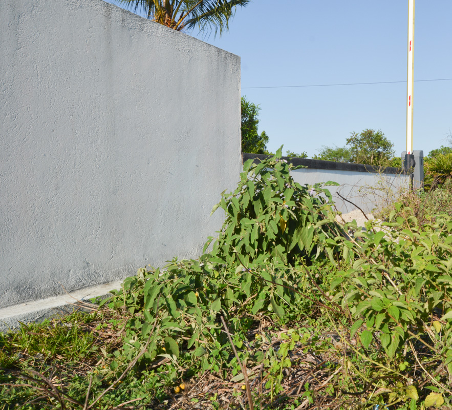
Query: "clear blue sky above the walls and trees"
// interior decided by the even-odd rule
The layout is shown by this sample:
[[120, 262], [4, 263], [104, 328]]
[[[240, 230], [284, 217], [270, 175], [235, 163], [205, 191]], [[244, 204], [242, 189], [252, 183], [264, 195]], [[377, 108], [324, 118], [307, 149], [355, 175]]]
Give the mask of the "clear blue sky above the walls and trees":
[[[110, 3], [114, 3], [111, 0]], [[275, 8], [276, 6], [276, 8]], [[451, 0], [418, 0], [414, 79], [452, 78]], [[254, 0], [229, 32], [203, 39], [242, 58], [242, 95], [261, 106], [267, 148], [306, 151], [343, 146], [351, 131], [381, 129], [396, 155], [405, 149], [407, 0]], [[414, 85], [415, 150], [448, 145], [452, 80]]]

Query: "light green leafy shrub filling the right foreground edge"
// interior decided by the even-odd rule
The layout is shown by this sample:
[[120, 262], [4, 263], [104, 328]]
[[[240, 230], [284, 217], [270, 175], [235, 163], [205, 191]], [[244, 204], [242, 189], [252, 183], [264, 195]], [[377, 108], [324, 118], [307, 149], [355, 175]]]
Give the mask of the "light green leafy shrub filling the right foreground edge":
[[402, 207], [396, 204], [386, 230], [355, 233], [358, 257], [331, 291], [354, 319], [347, 343], [373, 363], [384, 402], [417, 402], [422, 392], [425, 406], [439, 406], [452, 394], [452, 219], [421, 226], [411, 215], [406, 228], [395, 218]]

